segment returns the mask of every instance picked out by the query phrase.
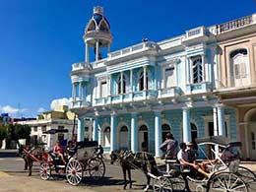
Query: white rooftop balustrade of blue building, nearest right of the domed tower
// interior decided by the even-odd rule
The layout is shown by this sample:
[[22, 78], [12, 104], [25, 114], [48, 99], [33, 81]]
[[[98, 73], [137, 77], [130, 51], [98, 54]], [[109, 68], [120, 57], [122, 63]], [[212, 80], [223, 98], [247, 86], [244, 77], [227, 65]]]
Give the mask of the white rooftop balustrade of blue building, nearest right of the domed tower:
[[140, 44], [136, 44], [118, 51], [111, 52], [108, 54], [108, 57], [115, 58], [115, 57], [124, 56], [127, 54], [132, 54], [134, 52], [139, 52], [147, 49], [157, 49], [157, 47], [158, 47], [158, 44], [156, 42], [146, 41], [146, 42], [142, 42]]

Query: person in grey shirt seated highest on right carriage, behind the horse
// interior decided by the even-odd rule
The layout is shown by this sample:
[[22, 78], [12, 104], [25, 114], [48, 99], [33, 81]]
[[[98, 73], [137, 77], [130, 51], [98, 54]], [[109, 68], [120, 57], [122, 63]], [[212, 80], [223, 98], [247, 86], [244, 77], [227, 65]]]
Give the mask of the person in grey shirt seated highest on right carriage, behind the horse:
[[176, 142], [171, 139], [171, 134], [165, 135], [165, 141], [160, 145], [160, 150], [165, 152], [166, 159], [176, 159]]

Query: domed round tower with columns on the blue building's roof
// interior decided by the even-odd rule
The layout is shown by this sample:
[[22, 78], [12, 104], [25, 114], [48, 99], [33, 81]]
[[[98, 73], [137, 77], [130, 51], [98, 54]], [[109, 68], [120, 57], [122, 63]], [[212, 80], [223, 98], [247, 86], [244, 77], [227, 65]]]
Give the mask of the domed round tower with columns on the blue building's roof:
[[90, 48], [94, 48], [95, 61], [102, 58], [103, 49], [110, 51], [110, 44], [112, 42], [112, 34], [110, 32], [110, 25], [103, 14], [103, 8], [96, 6], [94, 8], [94, 15], [86, 27], [84, 40], [86, 43], [86, 62], [89, 63]]

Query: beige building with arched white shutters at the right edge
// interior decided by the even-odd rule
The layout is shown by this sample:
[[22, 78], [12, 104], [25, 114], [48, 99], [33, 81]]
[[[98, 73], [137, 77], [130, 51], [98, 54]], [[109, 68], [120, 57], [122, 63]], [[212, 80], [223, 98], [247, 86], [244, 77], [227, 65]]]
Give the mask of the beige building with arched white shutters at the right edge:
[[256, 14], [217, 26], [217, 95], [236, 111], [245, 160], [256, 160]]

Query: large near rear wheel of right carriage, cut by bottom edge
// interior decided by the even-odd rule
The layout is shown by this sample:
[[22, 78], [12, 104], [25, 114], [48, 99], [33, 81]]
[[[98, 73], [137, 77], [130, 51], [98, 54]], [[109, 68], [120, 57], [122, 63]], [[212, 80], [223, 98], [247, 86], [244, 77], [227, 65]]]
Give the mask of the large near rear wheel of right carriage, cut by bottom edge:
[[211, 178], [208, 192], [248, 192], [247, 186], [241, 177], [230, 172], [221, 172]]

